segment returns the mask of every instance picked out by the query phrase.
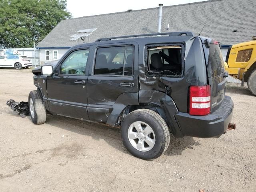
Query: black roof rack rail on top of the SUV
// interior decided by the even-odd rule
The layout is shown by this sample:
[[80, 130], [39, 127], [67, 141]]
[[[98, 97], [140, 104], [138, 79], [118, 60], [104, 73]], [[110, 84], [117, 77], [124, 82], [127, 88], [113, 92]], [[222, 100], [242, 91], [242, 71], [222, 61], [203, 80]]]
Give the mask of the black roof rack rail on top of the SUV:
[[119, 37], [108, 37], [108, 38], [100, 38], [97, 39], [95, 42], [99, 41], [110, 41], [112, 39], [122, 39], [122, 38], [130, 38], [130, 37], [143, 37], [143, 36], [155, 36], [155, 35], [169, 35], [169, 36], [194, 36], [191, 31], [179, 31], [179, 32], [168, 32], [168, 33], [150, 33], [150, 34], [139, 34], [139, 35], [128, 35], [128, 36], [119, 36]]

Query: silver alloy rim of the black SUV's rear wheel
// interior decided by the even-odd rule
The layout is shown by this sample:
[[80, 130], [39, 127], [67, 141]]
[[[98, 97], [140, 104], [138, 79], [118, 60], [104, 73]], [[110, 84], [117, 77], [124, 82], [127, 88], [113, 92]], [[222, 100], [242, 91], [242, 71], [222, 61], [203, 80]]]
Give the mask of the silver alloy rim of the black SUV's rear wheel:
[[156, 142], [153, 129], [142, 121], [136, 121], [130, 125], [128, 138], [135, 149], [143, 152], [151, 150]]

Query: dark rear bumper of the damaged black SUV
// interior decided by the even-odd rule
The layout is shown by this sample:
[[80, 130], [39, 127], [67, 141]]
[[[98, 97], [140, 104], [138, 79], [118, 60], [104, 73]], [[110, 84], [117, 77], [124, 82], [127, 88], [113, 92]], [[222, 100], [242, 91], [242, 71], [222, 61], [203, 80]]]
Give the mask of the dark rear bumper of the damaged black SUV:
[[225, 96], [222, 104], [212, 114], [206, 116], [191, 116], [188, 113], [178, 113], [175, 117], [184, 136], [200, 138], [216, 138], [226, 132], [232, 120], [234, 103]]

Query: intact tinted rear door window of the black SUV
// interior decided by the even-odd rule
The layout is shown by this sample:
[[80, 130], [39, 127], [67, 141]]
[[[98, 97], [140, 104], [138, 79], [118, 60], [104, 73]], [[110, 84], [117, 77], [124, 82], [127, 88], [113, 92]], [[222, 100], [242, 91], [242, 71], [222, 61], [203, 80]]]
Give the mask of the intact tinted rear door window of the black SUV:
[[133, 46], [98, 48], [94, 75], [132, 76], [133, 63]]

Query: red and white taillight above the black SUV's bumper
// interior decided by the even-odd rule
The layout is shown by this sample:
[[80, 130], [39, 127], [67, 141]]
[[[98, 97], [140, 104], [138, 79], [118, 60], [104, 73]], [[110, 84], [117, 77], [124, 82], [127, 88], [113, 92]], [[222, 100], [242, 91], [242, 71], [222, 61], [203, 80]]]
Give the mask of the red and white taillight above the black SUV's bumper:
[[208, 115], [211, 109], [211, 86], [190, 86], [189, 114]]

